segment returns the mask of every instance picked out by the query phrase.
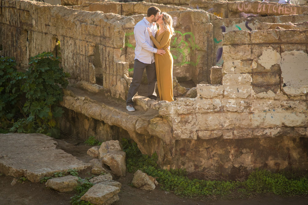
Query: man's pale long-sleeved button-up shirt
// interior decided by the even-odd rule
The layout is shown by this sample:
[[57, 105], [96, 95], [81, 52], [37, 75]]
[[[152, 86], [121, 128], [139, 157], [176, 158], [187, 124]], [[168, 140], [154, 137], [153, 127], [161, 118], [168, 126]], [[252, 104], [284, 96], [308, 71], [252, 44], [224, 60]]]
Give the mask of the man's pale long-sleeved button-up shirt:
[[157, 52], [157, 49], [154, 48], [154, 43], [150, 38], [147, 27], [151, 29], [152, 35], [155, 36], [157, 32], [156, 24], [153, 25], [153, 23], [148, 22], [145, 17], [134, 28], [136, 40], [135, 59], [151, 64], [155, 61], [154, 53]]

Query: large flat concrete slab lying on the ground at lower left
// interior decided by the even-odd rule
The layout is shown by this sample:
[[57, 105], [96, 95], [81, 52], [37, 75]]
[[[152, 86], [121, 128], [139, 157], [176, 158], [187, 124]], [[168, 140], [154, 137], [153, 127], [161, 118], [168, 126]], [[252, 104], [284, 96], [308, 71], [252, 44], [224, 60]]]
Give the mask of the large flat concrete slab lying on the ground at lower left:
[[52, 176], [55, 172], [83, 170], [90, 166], [56, 149], [56, 145], [53, 138], [38, 133], [0, 134], [0, 172], [39, 182], [42, 177]]

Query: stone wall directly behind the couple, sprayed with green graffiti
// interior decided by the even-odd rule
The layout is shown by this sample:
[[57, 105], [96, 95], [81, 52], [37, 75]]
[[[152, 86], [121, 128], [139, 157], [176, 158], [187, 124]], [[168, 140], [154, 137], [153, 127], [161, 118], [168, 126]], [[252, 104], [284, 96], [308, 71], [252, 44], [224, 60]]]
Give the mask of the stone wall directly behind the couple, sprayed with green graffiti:
[[[130, 2], [85, 2], [74, 9], [87, 11], [112, 12], [120, 15], [133, 15], [135, 23], [142, 20], [144, 14], [153, 3]], [[187, 10], [179, 6], [155, 4], [162, 12], [167, 12], [173, 18], [176, 35], [172, 37], [171, 53], [174, 58], [173, 75], [180, 81], [193, 80], [195, 84], [201, 81], [209, 82], [209, 70], [213, 61], [213, 26], [211, 19], [217, 18], [202, 10]], [[191, 22], [195, 22], [192, 24]], [[134, 63], [134, 48], [136, 41], [133, 30], [125, 34], [125, 61], [129, 63], [130, 75]]]

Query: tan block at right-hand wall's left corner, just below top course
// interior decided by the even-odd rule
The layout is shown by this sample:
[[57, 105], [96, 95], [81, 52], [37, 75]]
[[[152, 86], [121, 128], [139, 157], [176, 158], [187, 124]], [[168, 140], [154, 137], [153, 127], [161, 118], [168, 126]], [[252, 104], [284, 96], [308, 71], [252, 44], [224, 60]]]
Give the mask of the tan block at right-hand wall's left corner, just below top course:
[[251, 45], [224, 45], [222, 50], [222, 59], [224, 61], [252, 59]]

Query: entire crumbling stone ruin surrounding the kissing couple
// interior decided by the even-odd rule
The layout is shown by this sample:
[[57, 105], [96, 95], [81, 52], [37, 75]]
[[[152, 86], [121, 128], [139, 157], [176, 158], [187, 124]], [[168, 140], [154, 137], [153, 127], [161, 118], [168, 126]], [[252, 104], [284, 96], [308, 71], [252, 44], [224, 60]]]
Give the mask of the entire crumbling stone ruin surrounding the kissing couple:
[[[1, 55], [20, 68], [43, 51], [62, 58], [71, 79], [60, 124], [71, 135], [132, 138], [162, 168], [307, 169], [308, 6], [152, 2], [2, 0]], [[137, 96], [128, 113], [133, 28], [153, 5], [174, 22], [176, 100]]]

